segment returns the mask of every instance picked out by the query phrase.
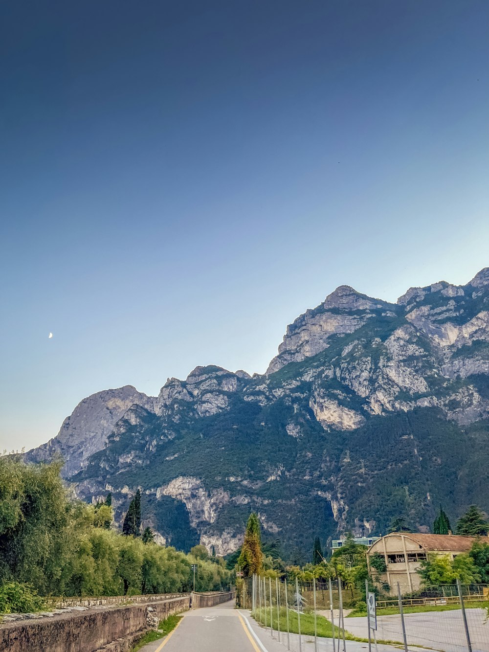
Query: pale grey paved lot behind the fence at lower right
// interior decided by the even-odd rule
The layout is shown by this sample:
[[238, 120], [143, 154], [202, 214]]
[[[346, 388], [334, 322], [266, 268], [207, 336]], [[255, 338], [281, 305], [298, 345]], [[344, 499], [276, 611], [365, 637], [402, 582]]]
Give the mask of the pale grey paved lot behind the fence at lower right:
[[[467, 623], [473, 652], [489, 652], [489, 622], [482, 609], [467, 609]], [[467, 652], [467, 639], [461, 610], [406, 614], [408, 644], [424, 645], [443, 652]], [[366, 617], [346, 618], [346, 629], [356, 636], [367, 635]], [[402, 642], [398, 615], [377, 618], [377, 638]]]

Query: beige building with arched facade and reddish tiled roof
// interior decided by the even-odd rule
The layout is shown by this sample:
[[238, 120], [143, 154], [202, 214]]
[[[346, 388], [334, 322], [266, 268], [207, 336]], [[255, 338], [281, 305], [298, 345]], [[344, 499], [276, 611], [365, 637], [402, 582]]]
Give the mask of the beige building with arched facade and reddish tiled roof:
[[[401, 593], [412, 593], [420, 588], [421, 578], [417, 569], [428, 555], [447, 555], [453, 559], [462, 552], [469, 552], [475, 539], [452, 534], [393, 532], [369, 546], [368, 572], [372, 574], [372, 557], [381, 555], [386, 571], [379, 574], [379, 580], [389, 584], [393, 594], [397, 593], [398, 583]], [[378, 575], [378, 572], [374, 571], [374, 574]]]

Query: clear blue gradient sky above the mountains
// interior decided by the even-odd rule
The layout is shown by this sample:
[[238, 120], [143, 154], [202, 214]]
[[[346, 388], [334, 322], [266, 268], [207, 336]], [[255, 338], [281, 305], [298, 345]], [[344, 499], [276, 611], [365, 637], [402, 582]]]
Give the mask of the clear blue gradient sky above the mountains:
[[[489, 265], [487, 0], [0, 3], [0, 449]], [[48, 339], [52, 331], [53, 338]]]

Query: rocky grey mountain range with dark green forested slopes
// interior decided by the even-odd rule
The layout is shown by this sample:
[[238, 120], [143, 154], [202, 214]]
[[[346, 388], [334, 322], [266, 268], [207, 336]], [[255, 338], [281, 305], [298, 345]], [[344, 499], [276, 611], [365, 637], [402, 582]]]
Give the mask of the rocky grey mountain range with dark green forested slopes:
[[197, 366], [156, 397], [132, 386], [82, 400], [56, 437], [75, 494], [113, 494], [120, 523], [141, 489], [161, 543], [217, 554], [265, 538], [302, 559], [314, 537], [426, 532], [489, 508], [489, 268], [468, 284], [410, 288], [394, 303], [340, 286], [287, 327], [267, 372]]

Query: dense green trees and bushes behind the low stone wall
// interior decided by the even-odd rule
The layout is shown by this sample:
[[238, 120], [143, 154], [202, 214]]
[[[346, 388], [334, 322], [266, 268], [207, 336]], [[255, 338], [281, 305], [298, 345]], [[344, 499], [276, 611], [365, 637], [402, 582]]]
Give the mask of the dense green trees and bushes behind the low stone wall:
[[62, 462], [25, 464], [0, 456], [0, 612], [34, 612], [44, 597], [180, 593], [228, 587], [224, 559], [203, 546], [190, 554], [141, 535], [140, 493], [113, 526], [110, 494], [98, 505], [68, 497]]

